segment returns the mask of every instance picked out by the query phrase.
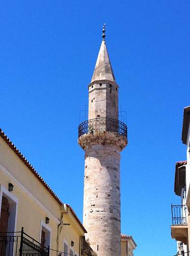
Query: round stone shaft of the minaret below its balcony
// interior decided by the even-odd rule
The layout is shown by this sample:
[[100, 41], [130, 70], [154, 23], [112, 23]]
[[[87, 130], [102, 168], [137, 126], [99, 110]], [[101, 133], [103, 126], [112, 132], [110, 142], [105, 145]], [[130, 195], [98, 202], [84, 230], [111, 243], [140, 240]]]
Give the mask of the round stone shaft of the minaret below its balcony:
[[121, 255], [120, 150], [114, 145], [85, 148], [84, 226], [98, 256]]

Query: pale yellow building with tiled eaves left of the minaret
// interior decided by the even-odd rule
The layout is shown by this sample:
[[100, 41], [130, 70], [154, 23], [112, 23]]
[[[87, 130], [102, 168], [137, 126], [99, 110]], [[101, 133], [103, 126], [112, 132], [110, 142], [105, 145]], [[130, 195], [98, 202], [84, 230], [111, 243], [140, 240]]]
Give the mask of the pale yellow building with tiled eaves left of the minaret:
[[1, 256], [85, 255], [85, 227], [2, 130], [0, 206]]

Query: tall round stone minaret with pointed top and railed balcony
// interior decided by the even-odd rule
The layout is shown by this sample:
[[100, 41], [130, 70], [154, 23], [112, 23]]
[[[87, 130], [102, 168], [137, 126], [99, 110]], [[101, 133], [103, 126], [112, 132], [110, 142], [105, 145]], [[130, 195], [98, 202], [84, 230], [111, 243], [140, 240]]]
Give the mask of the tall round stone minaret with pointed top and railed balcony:
[[89, 84], [88, 120], [78, 126], [85, 151], [84, 226], [98, 256], [121, 256], [120, 152], [127, 126], [118, 120], [118, 84], [105, 45], [105, 25]]

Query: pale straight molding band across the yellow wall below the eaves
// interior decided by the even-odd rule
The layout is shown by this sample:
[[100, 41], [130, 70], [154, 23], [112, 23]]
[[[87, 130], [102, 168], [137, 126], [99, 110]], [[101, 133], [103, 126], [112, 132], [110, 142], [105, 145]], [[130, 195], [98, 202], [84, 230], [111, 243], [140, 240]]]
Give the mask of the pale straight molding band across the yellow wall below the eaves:
[[22, 190], [22, 191], [25, 193], [26, 196], [28, 196], [31, 200], [33, 200], [34, 203], [35, 203], [36, 205], [38, 205], [38, 207], [40, 207], [41, 210], [43, 210], [44, 212], [46, 212], [46, 214], [47, 214], [53, 221], [55, 221], [57, 224], [60, 223], [59, 219], [58, 219], [56, 216], [54, 216], [38, 199], [36, 199], [36, 198], [30, 193], [30, 191], [29, 191], [28, 189], [26, 189], [17, 179], [15, 179], [15, 177], [14, 177], [12, 174], [10, 174], [10, 173], [8, 172], [8, 170], [7, 170], [2, 164], [0, 164], [0, 170], [1, 170], [6, 176], [8, 176], [8, 178], [9, 178], [10, 180], [12, 180], [12, 181], [16, 184], [16, 185], [20, 188], [20, 190]]

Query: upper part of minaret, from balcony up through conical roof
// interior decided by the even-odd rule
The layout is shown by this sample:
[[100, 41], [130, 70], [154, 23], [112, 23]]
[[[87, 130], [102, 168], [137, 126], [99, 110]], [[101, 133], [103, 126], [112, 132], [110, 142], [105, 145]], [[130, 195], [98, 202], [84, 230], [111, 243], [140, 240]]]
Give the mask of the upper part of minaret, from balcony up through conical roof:
[[127, 145], [127, 125], [118, 120], [118, 90], [105, 40], [102, 40], [89, 89], [89, 120], [78, 126], [78, 143]]

